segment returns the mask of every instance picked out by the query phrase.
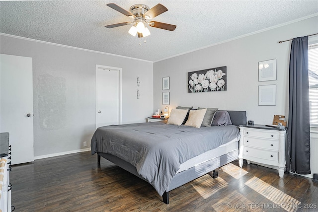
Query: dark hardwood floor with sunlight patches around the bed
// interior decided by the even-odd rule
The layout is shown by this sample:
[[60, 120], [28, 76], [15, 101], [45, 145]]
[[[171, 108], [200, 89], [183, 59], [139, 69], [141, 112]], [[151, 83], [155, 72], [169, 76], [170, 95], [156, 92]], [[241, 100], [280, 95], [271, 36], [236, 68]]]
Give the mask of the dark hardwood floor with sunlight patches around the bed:
[[309, 212], [318, 211], [318, 183], [234, 161], [169, 192], [170, 204], [147, 182], [97, 155], [81, 152], [14, 165], [16, 212]]

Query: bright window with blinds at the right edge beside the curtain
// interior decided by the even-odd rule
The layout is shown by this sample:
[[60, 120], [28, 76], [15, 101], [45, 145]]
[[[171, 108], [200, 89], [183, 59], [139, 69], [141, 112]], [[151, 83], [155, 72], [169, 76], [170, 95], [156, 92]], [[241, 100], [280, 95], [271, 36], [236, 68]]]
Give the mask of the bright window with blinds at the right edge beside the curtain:
[[318, 43], [308, 47], [310, 124], [318, 127]]

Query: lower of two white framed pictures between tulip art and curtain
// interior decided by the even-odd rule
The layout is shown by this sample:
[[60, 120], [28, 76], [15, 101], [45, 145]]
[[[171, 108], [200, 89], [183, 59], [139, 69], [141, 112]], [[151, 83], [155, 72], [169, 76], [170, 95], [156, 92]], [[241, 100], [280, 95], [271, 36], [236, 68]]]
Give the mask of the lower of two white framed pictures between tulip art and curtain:
[[258, 105], [276, 105], [276, 85], [258, 86]]

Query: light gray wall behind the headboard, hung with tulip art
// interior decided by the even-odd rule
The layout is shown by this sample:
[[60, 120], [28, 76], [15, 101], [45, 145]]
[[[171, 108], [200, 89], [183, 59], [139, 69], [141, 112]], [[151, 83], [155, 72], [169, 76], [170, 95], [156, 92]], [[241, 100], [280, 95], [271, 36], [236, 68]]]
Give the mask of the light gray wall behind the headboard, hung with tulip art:
[[[255, 124], [271, 124], [274, 115], [288, 116], [291, 41], [278, 42], [317, 33], [317, 23], [315, 16], [154, 63], [154, 110], [164, 108], [161, 78], [170, 76], [170, 110], [176, 106], [244, 110], [247, 120], [254, 120]], [[259, 82], [258, 62], [270, 59], [276, 59], [277, 80]], [[188, 93], [187, 72], [222, 66], [227, 66], [227, 91]], [[258, 106], [258, 86], [267, 84], [277, 86], [276, 106]], [[317, 152], [312, 155], [314, 158]], [[317, 161], [312, 163], [313, 173], [318, 172]]]

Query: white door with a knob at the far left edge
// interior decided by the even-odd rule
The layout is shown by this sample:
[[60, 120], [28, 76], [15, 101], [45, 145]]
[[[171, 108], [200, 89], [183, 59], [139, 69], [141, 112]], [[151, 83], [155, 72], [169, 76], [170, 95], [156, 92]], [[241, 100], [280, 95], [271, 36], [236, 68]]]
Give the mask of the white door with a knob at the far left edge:
[[11, 163], [34, 161], [32, 58], [0, 55], [0, 132], [9, 133]]

